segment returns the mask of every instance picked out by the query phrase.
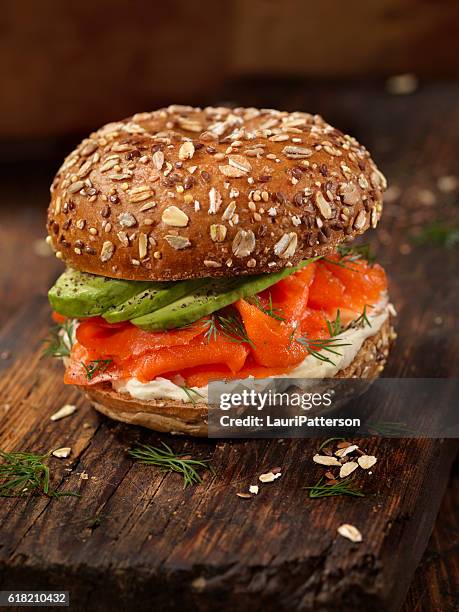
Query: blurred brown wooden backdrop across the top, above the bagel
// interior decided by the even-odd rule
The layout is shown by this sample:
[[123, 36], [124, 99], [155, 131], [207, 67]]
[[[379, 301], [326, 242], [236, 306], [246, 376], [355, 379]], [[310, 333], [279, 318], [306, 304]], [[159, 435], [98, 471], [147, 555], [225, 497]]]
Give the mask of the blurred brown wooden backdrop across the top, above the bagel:
[[252, 76], [454, 78], [458, 30], [456, 0], [3, 0], [0, 137], [232, 99]]

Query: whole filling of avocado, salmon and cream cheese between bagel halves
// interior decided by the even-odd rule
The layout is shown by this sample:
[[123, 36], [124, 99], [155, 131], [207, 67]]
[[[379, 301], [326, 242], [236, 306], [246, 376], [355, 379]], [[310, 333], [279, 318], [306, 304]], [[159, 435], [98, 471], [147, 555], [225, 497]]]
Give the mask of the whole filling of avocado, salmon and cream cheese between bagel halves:
[[50, 291], [56, 320], [77, 323], [65, 382], [143, 400], [206, 401], [213, 380], [334, 376], [389, 312], [384, 270], [351, 251], [221, 281], [66, 274]]

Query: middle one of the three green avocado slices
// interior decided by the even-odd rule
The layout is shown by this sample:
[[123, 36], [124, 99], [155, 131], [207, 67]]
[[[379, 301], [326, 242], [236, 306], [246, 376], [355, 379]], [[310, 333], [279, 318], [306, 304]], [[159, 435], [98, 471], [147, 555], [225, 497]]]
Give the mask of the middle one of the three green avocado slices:
[[178, 282], [151, 282], [148, 283], [147, 289], [110, 308], [102, 316], [109, 323], [138, 318], [175, 302], [188, 293], [197, 290], [206, 282], [208, 281], [205, 278]]

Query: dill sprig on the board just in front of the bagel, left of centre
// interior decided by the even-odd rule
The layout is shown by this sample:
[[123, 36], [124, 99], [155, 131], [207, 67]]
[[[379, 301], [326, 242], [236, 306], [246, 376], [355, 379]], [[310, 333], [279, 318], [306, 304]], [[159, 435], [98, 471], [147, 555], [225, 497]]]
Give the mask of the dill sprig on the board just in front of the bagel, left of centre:
[[165, 472], [177, 472], [183, 476], [183, 488], [200, 484], [201, 476], [196, 471], [197, 469], [211, 470], [207, 460], [191, 459], [186, 455], [176, 455], [174, 451], [161, 442], [163, 448], [142, 444], [139, 448], [134, 448], [129, 451], [131, 457], [137, 459], [139, 463], [145, 465], [155, 465]]

